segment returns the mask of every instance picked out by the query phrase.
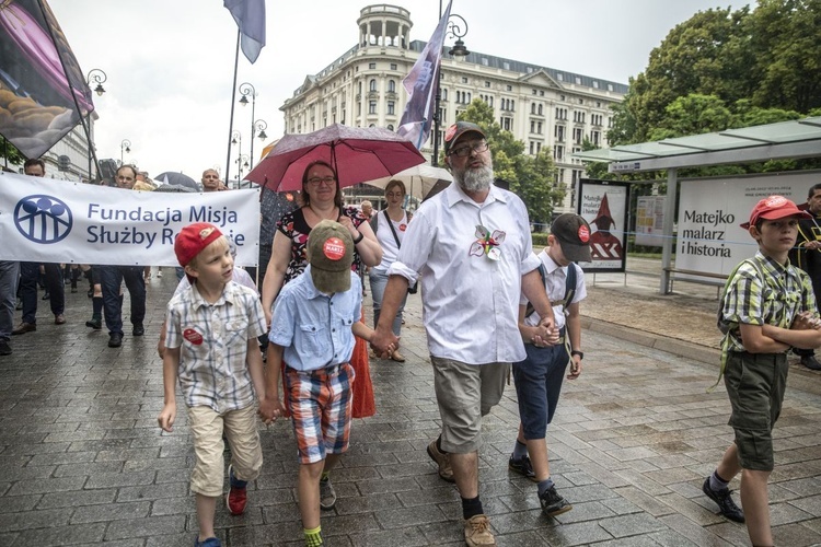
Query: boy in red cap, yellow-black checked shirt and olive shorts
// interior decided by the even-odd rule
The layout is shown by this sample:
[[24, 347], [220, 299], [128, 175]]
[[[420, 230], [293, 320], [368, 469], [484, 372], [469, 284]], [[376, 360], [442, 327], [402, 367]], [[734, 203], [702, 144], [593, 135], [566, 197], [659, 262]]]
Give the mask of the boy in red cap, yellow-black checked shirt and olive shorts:
[[[773, 545], [767, 480], [774, 467], [773, 426], [787, 385], [787, 351], [821, 346], [812, 282], [787, 258], [796, 244], [798, 219], [807, 214], [783, 196], [755, 205], [741, 228], [759, 243], [759, 252], [728, 278], [718, 315], [725, 333], [721, 373], [736, 439], [702, 490], [724, 516], [747, 522], [756, 546]], [[743, 512], [728, 489], [739, 472]]]

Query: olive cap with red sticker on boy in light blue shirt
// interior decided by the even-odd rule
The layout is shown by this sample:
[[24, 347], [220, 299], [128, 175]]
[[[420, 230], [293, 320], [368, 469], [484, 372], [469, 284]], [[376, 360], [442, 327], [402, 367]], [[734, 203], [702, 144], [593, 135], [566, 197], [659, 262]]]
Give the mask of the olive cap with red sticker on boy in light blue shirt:
[[314, 287], [324, 293], [350, 289], [354, 238], [346, 228], [323, 220], [308, 235], [308, 261]]

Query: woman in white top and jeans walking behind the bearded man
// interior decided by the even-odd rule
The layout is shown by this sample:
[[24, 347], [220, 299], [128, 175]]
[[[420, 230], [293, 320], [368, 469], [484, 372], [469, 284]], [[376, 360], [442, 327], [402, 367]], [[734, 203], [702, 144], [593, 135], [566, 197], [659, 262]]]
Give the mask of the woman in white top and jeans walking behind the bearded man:
[[[410, 222], [412, 213], [402, 208], [405, 201], [405, 183], [396, 178], [385, 185], [385, 201], [388, 208], [373, 216], [371, 228], [377, 234], [377, 241], [382, 246], [382, 263], [372, 267], [369, 272], [371, 283], [371, 295], [373, 296], [373, 325], [379, 323], [379, 312], [382, 309], [382, 296], [385, 293], [388, 284], [388, 268], [391, 267], [400, 254], [402, 237], [407, 230], [407, 223]], [[402, 300], [396, 316], [393, 318], [393, 334], [400, 336], [402, 329], [402, 312], [405, 309], [407, 293]], [[404, 363], [405, 357], [400, 353], [398, 349], [391, 353], [391, 359], [397, 363]]]

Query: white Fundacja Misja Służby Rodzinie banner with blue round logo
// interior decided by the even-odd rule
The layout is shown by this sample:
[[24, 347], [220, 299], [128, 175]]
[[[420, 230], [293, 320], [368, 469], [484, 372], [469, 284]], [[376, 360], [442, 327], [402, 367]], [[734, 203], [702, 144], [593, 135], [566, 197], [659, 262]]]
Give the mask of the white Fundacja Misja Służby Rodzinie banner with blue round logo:
[[259, 190], [136, 191], [13, 173], [0, 175], [0, 259], [178, 266], [174, 240], [209, 222], [233, 240], [238, 266], [255, 266]]

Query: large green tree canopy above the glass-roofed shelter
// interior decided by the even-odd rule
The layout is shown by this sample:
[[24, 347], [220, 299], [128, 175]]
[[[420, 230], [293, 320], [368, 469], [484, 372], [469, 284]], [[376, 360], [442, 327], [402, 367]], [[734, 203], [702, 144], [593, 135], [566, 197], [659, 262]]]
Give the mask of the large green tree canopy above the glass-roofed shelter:
[[797, 119], [821, 108], [821, 0], [698, 12], [650, 53], [614, 107], [626, 144]]

